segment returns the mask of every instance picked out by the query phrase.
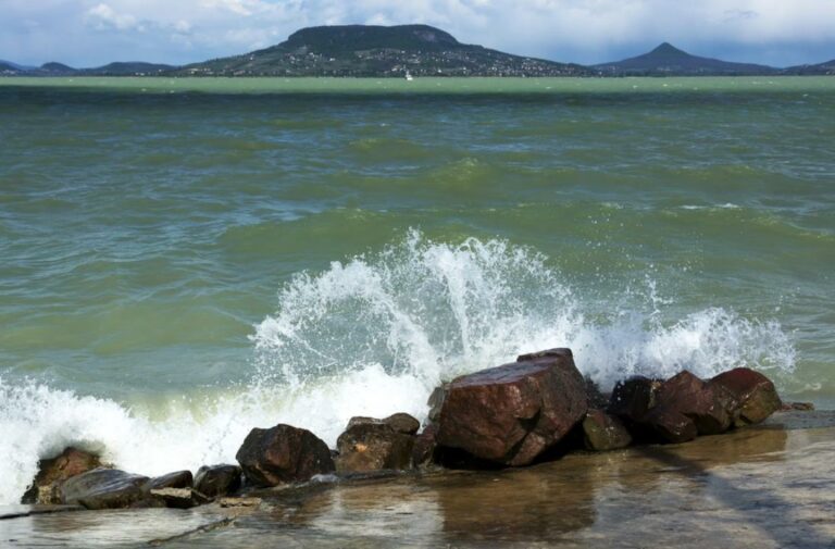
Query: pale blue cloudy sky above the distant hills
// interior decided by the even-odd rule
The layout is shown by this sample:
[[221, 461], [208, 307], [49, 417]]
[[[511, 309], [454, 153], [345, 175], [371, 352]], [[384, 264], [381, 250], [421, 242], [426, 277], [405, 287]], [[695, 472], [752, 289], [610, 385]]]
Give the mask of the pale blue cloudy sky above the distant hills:
[[773, 66], [835, 59], [835, 0], [0, 0], [0, 59], [184, 64], [272, 46], [307, 26], [410, 23], [584, 64], [662, 41]]

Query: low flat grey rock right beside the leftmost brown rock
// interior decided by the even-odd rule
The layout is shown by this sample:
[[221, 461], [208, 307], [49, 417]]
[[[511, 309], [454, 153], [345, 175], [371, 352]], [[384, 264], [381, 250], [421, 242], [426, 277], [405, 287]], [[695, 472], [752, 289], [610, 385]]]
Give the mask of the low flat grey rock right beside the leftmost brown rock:
[[95, 469], [66, 479], [61, 486], [61, 502], [87, 509], [152, 507], [144, 490], [147, 476], [115, 469]]

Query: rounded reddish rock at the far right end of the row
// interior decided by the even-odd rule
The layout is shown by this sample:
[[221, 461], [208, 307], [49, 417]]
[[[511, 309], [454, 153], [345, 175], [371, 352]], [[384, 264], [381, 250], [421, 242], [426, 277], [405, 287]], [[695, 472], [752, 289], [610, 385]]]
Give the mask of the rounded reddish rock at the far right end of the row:
[[735, 427], [760, 423], [783, 407], [774, 384], [748, 367], [735, 367], [713, 377], [711, 385], [721, 385], [737, 402], [732, 413]]

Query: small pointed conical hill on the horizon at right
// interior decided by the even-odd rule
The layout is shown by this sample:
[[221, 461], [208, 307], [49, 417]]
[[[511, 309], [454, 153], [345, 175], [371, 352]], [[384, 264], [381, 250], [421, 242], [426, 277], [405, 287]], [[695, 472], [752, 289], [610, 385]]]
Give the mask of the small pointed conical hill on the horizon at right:
[[611, 63], [595, 65], [606, 76], [727, 76], [777, 74], [777, 68], [750, 63], [732, 63], [719, 59], [700, 58], [663, 42], [648, 53]]

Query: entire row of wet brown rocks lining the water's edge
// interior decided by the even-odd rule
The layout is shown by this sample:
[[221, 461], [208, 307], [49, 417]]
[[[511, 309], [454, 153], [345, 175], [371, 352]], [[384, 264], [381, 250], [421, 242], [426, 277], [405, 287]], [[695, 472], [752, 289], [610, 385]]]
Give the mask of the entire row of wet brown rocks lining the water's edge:
[[[253, 428], [237, 464], [148, 477], [112, 469], [66, 448], [42, 460], [24, 504], [48, 511], [176, 508], [210, 502], [258, 506], [263, 494], [311, 481], [409, 471], [497, 470], [558, 460], [577, 451], [681, 444], [765, 420], [784, 407], [762, 374], [738, 367], [702, 380], [687, 371], [669, 379], [632, 377], [602, 395], [584, 379], [571, 350], [520, 355], [516, 362], [438, 387], [420, 422], [404, 413], [353, 417], [336, 449], [290, 425]], [[795, 404], [795, 408], [808, 408]], [[46, 507], [45, 507], [46, 506]], [[67, 506], [70, 506], [67, 508]]]

